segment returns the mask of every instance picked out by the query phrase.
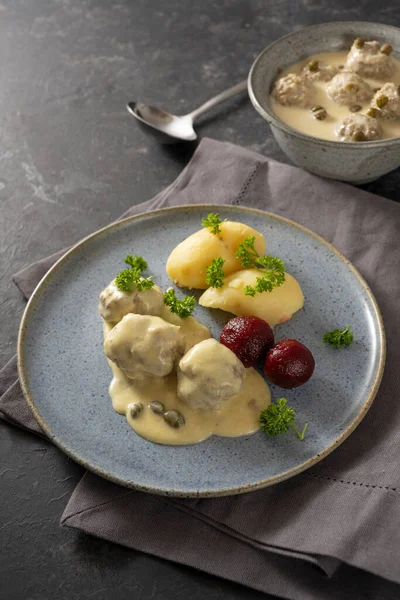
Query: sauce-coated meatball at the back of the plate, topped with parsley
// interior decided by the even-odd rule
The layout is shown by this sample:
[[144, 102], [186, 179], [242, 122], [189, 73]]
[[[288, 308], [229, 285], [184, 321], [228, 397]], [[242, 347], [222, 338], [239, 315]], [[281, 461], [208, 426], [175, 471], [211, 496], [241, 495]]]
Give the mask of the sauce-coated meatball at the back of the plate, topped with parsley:
[[128, 313], [159, 316], [164, 306], [164, 296], [157, 285], [139, 292], [122, 292], [115, 279], [101, 292], [99, 312], [105, 321], [117, 323]]

